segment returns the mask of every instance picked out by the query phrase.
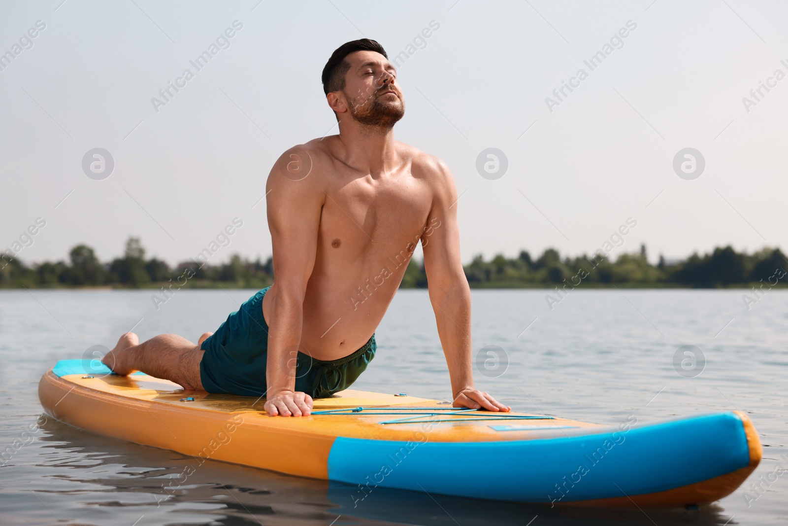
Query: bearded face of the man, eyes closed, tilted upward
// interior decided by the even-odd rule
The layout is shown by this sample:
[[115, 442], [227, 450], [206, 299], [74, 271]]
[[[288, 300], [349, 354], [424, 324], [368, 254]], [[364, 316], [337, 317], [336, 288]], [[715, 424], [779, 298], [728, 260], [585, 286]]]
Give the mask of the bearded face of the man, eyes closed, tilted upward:
[[396, 69], [380, 53], [355, 51], [346, 61], [342, 90], [348, 99], [351, 117], [363, 125], [391, 129], [405, 114], [405, 102], [396, 81]]

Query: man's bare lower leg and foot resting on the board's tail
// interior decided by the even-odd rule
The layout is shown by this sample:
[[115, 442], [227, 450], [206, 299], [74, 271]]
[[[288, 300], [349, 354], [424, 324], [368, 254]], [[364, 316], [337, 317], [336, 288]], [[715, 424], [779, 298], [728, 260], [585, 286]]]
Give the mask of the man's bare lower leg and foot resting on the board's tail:
[[102, 358], [102, 363], [118, 375], [143, 371], [180, 384], [184, 389], [204, 390], [200, 381], [199, 363], [203, 344], [210, 333], [203, 334], [197, 345], [177, 334], [160, 334], [139, 343], [134, 333], [126, 333], [117, 345]]

